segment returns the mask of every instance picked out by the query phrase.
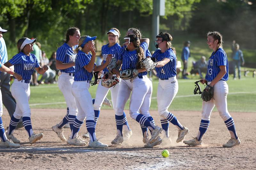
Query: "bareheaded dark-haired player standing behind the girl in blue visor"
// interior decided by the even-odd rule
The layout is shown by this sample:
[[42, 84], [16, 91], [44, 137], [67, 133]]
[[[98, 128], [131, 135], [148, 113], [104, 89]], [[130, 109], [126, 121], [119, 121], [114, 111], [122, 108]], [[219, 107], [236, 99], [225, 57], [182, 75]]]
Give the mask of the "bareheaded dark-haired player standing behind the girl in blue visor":
[[72, 95], [71, 89], [75, 75], [75, 58], [76, 54], [73, 48], [77, 47], [80, 39], [80, 31], [78, 28], [69, 28], [66, 33], [65, 43], [57, 49], [56, 52], [56, 68], [60, 69], [61, 75], [58, 79], [60, 91], [63, 93], [67, 103], [67, 115], [60, 123], [52, 126], [52, 130], [58, 135], [62, 141], [67, 141], [63, 134], [63, 127], [69, 122], [72, 131], [74, 120], [77, 115], [77, 107], [75, 97]]

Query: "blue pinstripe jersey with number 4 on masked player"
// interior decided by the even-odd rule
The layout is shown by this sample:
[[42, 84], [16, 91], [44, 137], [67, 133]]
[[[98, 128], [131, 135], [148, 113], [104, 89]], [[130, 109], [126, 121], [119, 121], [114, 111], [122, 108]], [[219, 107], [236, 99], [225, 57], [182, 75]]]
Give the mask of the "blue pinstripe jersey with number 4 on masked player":
[[161, 50], [157, 49], [152, 57], [156, 58], [156, 62], [162, 61], [164, 58], [170, 59], [163, 67], [155, 68], [158, 78], [171, 78], [176, 76], [176, 55], [171, 48], [168, 48], [164, 53], [161, 53]]

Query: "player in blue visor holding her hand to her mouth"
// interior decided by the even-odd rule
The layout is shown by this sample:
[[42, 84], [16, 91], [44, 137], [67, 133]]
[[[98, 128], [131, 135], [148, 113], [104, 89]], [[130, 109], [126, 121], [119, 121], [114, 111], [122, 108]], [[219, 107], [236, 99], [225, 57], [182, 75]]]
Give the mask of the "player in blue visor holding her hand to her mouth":
[[[71, 136], [68, 138], [68, 144], [85, 145], [86, 143], [81, 141], [77, 133], [80, 130], [84, 119], [86, 117], [86, 128], [90, 135], [89, 147], [91, 148], [106, 148], [107, 144], [101, 143], [95, 135], [95, 122], [94, 111], [92, 105], [92, 97], [89, 92], [90, 81], [92, 79], [92, 71], [100, 71], [107, 67], [112, 55], [106, 58], [106, 62], [100, 66], [95, 64], [95, 43], [93, 42], [95, 37], [82, 36], [79, 40], [78, 47], [75, 50], [76, 56], [76, 72], [74, 83], [72, 85], [72, 94], [76, 99], [76, 106], [78, 108], [78, 115], [74, 121]], [[90, 54], [89, 52], [92, 52]]]

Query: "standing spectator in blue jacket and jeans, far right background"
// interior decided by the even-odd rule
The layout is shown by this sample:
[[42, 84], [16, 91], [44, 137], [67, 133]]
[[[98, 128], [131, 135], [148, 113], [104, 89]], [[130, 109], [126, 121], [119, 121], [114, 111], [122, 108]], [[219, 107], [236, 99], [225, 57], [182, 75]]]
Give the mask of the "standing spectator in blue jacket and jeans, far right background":
[[234, 46], [234, 51], [232, 53], [232, 58], [235, 64], [234, 67], [234, 79], [236, 79], [236, 67], [238, 68], [238, 78], [241, 78], [241, 60], [242, 60], [242, 65], [244, 65], [244, 56], [243, 52], [239, 49], [239, 44], [235, 44]]

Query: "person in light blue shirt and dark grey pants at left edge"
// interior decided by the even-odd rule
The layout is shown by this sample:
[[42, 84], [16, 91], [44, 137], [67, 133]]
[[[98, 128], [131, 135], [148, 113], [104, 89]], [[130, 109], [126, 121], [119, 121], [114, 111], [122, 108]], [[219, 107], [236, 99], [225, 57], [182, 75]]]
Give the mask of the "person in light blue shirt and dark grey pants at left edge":
[[[7, 48], [5, 45], [5, 41], [3, 38], [3, 34], [6, 33], [7, 30], [2, 29], [0, 27], [0, 60], [1, 63], [4, 64], [8, 61]], [[10, 74], [2, 71], [0, 75], [0, 87], [2, 92], [3, 104], [6, 107], [10, 117], [12, 117], [16, 108], [16, 101], [12, 97], [12, 93], [10, 92]], [[22, 120], [18, 123], [17, 129], [23, 127]]]

